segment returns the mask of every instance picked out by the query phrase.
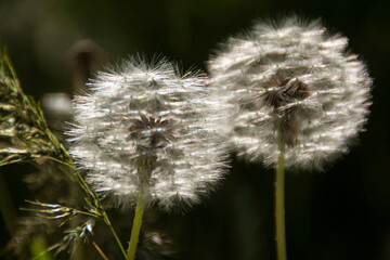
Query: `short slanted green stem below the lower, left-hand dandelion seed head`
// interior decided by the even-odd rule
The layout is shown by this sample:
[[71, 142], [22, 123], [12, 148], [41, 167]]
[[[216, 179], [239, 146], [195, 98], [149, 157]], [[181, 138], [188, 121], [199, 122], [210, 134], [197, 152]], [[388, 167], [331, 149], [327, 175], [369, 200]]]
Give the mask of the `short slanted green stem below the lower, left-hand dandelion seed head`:
[[136, 245], [140, 236], [140, 230], [142, 224], [142, 216], [145, 209], [145, 194], [143, 188], [140, 191], [140, 195], [136, 202], [135, 216], [133, 221], [133, 226], [131, 230], [130, 244], [127, 253], [127, 260], [133, 260], [135, 256]]

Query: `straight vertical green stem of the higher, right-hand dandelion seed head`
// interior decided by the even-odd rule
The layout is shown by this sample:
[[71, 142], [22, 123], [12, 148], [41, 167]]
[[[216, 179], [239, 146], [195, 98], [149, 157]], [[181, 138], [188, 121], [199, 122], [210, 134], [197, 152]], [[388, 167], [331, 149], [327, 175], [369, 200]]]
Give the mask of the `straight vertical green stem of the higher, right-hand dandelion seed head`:
[[275, 230], [277, 260], [286, 260], [286, 225], [285, 225], [285, 156], [282, 140], [281, 120], [277, 121], [277, 146], [280, 156], [276, 165], [275, 183]]

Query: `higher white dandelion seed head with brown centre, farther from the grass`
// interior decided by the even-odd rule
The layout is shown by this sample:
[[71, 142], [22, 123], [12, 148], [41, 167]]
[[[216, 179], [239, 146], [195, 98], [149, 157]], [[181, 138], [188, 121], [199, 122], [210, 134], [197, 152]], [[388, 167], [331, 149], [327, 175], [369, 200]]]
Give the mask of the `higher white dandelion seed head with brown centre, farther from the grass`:
[[236, 106], [238, 156], [274, 167], [277, 129], [286, 167], [321, 170], [348, 152], [367, 120], [372, 79], [347, 46], [318, 21], [298, 17], [259, 22], [222, 46], [208, 66], [214, 88]]

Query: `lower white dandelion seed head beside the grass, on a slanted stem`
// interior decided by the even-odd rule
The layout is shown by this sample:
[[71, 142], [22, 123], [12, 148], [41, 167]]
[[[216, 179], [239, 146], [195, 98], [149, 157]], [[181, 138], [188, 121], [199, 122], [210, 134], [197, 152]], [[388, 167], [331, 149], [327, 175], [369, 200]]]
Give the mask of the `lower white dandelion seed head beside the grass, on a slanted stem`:
[[[99, 73], [91, 93], [74, 101], [70, 154], [86, 180], [125, 206], [140, 188], [169, 209], [197, 203], [221, 179], [225, 131], [203, 74], [180, 76], [162, 60], [125, 62]], [[143, 186], [146, 185], [146, 187]]]

